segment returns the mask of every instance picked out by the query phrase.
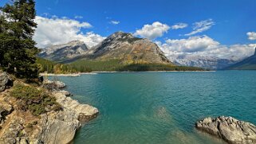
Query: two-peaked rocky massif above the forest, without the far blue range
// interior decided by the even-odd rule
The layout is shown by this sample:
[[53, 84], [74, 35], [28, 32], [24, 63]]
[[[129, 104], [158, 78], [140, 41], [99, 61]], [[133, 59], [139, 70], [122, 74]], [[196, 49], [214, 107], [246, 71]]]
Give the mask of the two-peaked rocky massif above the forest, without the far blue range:
[[113, 33], [91, 49], [81, 41], [71, 41], [68, 44], [42, 49], [39, 56], [63, 63], [76, 60], [116, 59], [125, 64], [172, 64], [152, 41], [123, 32]]

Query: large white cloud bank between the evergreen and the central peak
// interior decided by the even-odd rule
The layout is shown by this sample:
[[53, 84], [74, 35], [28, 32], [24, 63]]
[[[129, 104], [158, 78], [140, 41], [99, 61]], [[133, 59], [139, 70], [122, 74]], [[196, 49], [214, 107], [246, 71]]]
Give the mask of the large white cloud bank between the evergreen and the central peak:
[[81, 29], [92, 27], [88, 22], [80, 22], [66, 18], [43, 18], [37, 16], [37, 29], [33, 40], [37, 42], [37, 47], [45, 48], [49, 45], [67, 43], [73, 40], [84, 41], [86, 45], [94, 46], [104, 40], [104, 37], [90, 32], [82, 33]]

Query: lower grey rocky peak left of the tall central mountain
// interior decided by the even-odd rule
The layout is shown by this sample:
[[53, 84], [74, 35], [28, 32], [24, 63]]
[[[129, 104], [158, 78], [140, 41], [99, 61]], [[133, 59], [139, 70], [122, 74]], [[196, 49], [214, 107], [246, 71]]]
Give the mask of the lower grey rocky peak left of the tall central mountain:
[[84, 42], [70, 41], [67, 44], [52, 45], [45, 49], [41, 49], [39, 56], [47, 60], [63, 61], [79, 56], [86, 51], [88, 51], [88, 47]]

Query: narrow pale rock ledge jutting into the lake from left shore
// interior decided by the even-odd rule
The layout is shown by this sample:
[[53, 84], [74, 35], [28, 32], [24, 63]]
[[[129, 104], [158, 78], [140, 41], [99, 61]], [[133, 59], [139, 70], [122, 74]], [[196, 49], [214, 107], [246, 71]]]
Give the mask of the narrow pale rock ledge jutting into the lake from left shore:
[[67, 97], [61, 92], [55, 93], [54, 97], [56, 98], [57, 103], [61, 103], [65, 109], [74, 111], [78, 116], [77, 119], [81, 122], [89, 121], [90, 119], [95, 118], [99, 113], [96, 107], [92, 107], [88, 104], [78, 103], [77, 100]]

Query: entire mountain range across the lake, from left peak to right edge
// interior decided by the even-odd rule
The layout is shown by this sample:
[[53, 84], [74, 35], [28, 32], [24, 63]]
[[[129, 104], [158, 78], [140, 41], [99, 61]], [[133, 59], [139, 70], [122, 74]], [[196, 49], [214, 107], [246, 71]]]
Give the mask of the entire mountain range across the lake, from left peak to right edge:
[[175, 64], [207, 69], [250, 69], [254, 68], [255, 64], [255, 55], [239, 63], [238, 60], [214, 56], [172, 55], [167, 57], [152, 41], [123, 32], [113, 33], [92, 48], [82, 41], [52, 45], [41, 49], [39, 56], [61, 63], [72, 63], [77, 60], [119, 60], [123, 64]]

